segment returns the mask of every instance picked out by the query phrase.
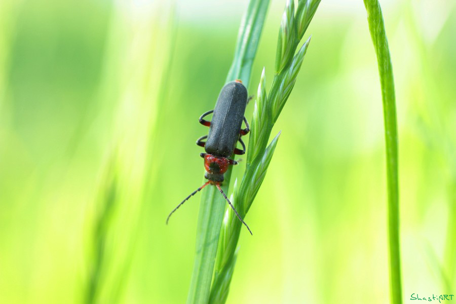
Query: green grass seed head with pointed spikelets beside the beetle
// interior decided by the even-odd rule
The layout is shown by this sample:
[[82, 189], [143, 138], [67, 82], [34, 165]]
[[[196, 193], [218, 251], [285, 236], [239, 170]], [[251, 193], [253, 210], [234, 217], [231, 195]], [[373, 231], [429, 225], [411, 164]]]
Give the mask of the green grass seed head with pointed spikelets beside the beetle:
[[[245, 217], [251, 207], [274, 154], [280, 133], [269, 145], [268, 141], [296, 82], [310, 38], [297, 52], [296, 50], [319, 4], [319, 0], [298, 1], [295, 11], [294, 2], [287, 1], [279, 30], [274, 80], [267, 94], [263, 69], [253, 111], [246, 171], [240, 185], [235, 182], [234, 186], [232, 203], [242, 217]], [[226, 301], [236, 263], [240, 232], [241, 223], [233, 214], [226, 212], [220, 232], [210, 303]]]

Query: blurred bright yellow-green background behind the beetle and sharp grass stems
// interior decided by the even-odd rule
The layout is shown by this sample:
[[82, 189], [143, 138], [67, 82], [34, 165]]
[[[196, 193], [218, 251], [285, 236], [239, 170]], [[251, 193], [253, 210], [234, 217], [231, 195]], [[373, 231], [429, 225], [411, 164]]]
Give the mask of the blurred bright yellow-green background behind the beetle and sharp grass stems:
[[[270, 5], [251, 94], [263, 66], [271, 84], [284, 4]], [[409, 302], [456, 292], [456, 3], [381, 4]], [[165, 219], [202, 184], [197, 119], [246, 7], [0, 2], [1, 303], [185, 301], [199, 195]], [[322, 1], [309, 34], [228, 303], [389, 301], [383, 109], [362, 1]]]

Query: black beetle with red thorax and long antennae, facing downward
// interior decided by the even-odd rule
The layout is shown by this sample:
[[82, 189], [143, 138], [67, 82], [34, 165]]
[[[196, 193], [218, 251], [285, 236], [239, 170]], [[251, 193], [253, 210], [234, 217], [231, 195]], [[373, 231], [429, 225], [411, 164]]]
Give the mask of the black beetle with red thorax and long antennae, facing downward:
[[[204, 147], [204, 150], [206, 151], [206, 153], [201, 153], [200, 156], [204, 158], [204, 168], [206, 169], [204, 177], [208, 179], [208, 181], [177, 205], [177, 207], [168, 215], [166, 223], [168, 223], [171, 214], [173, 214], [185, 201], [201, 191], [201, 189], [208, 184], [212, 184], [217, 187], [223, 198], [236, 213], [236, 216], [247, 227], [250, 234], [252, 234], [249, 226], [244, 222], [220, 187], [224, 180], [223, 174], [228, 170], [229, 166], [238, 164], [235, 160], [230, 159], [231, 155], [245, 154], [245, 144], [241, 137], [250, 131], [249, 123], [244, 116], [248, 102], [247, 95], [247, 89], [242, 84], [241, 80], [229, 82], [221, 89], [215, 108], [201, 115], [199, 122], [203, 126], [209, 127], [209, 133], [208, 135], [198, 138], [196, 143], [197, 145]], [[211, 113], [212, 120], [205, 120], [204, 118]], [[242, 122], [245, 123], [245, 129], [241, 129]], [[206, 139], [206, 141], [204, 141], [204, 139]], [[238, 141], [241, 144], [242, 149], [236, 147]]]

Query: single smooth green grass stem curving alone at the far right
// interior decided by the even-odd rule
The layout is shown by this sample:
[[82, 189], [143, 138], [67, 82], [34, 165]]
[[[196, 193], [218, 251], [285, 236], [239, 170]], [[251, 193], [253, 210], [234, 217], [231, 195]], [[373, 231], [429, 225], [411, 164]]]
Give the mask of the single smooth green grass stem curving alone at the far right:
[[388, 229], [390, 254], [391, 302], [402, 303], [401, 259], [399, 246], [399, 183], [396, 123], [396, 98], [394, 94], [393, 67], [382, 9], [377, 0], [364, 0], [370, 35], [377, 55], [378, 72], [382, 86], [383, 112], [388, 182]]

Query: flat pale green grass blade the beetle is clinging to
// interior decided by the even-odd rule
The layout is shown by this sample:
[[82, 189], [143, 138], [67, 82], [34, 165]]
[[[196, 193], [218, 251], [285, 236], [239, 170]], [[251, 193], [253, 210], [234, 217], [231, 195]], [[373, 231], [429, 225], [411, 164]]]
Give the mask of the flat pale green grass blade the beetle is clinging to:
[[[269, 0], [251, 0], [239, 30], [233, 64], [226, 81], [241, 79], [247, 86], [253, 59], [258, 48]], [[225, 193], [230, 184], [231, 169], [225, 173], [222, 189]], [[217, 188], [204, 189], [198, 218], [194, 270], [188, 291], [187, 303], [207, 303], [214, 270], [220, 226], [226, 202]]]

